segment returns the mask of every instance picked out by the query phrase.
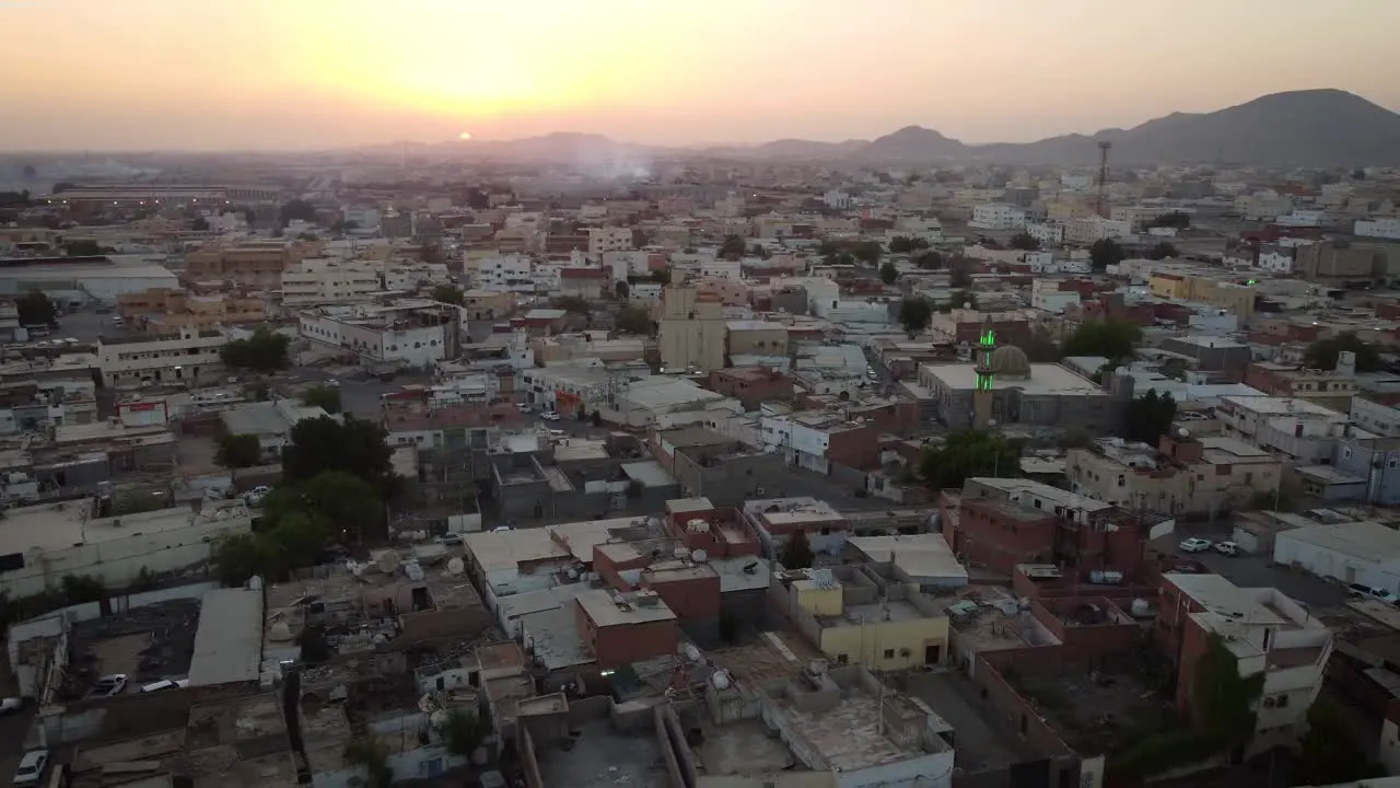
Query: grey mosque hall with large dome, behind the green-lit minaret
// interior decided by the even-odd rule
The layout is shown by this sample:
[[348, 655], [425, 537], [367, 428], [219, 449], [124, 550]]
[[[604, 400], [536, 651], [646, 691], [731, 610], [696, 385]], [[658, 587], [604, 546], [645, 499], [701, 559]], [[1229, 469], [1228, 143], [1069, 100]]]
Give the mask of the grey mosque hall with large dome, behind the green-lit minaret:
[[[990, 359], [991, 411], [998, 425], [1079, 428], [1092, 435], [1113, 433], [1131, 397], [1131, 386], [1109, 390], [1060, 365], [1033, 365], [1019, 348], [997, 348]], [[953, 429], [972, 426], [977, 365], [920, 365], [918, 384], [930, 391], [941, 422]]]

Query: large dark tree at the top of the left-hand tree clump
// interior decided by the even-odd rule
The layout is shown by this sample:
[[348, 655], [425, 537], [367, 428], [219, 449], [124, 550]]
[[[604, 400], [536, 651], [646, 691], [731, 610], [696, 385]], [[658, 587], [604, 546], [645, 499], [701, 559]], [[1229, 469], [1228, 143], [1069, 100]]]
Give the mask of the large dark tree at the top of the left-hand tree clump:
[[346, 414], [301, 419], [291, 428], [290, 442], [281, 450], [281, 475], [288, 484], [312, 480], [326, 471], [344, 471], [379, 488], [385, 498], [393, 492], [392, 450], [388, 433], [379, 425]]

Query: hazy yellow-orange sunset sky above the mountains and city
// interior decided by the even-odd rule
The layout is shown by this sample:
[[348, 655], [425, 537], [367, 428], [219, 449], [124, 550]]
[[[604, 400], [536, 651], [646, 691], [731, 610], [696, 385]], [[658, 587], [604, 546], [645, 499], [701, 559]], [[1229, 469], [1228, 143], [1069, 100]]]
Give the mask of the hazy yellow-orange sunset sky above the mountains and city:
[[1029, 142], [1333, 87], [1400, 0], [0, 0], [0, 150]]

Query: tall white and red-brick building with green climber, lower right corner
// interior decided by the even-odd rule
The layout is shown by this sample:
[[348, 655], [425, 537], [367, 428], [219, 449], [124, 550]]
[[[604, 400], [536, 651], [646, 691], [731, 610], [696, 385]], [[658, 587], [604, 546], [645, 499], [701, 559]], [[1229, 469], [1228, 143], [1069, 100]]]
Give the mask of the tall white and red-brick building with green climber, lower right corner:
[[[1264, 676], [1249, 752], [1292, 745], [1322, 690], [1331, 631], [1277, 589], [1242, 589], [1219, 575], [1162, 575], [1156, 634], [1176, 665], [1176, 705], [1198, 711], [1196, 672], [1212, 648], [1235, 658], [1240, 676]], [[1203, 722], [1196, 719], [1196, 722]]]

